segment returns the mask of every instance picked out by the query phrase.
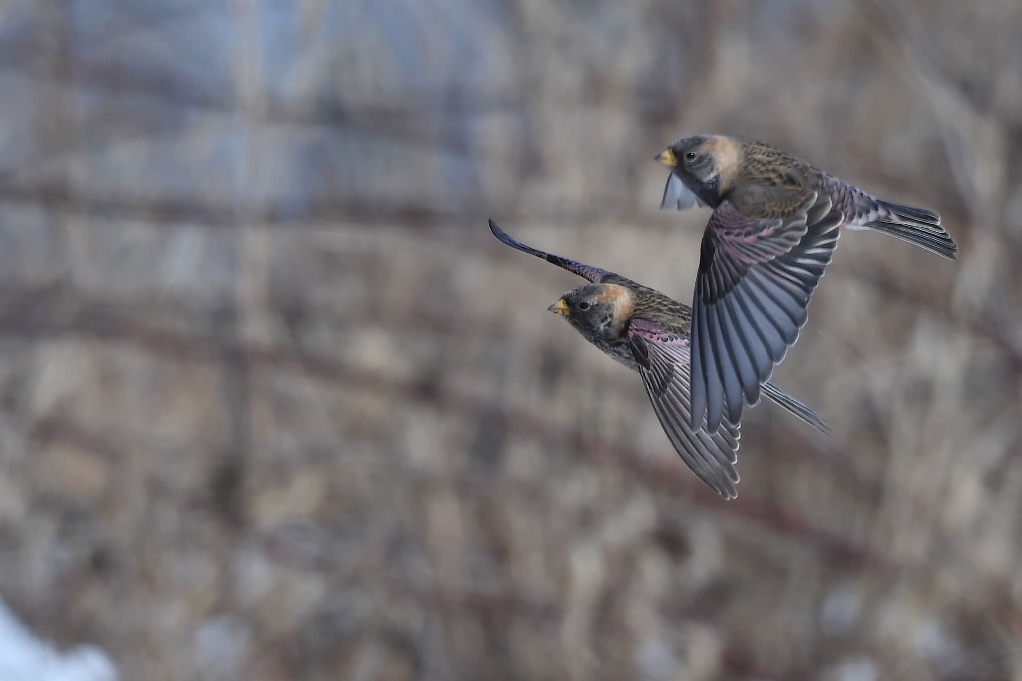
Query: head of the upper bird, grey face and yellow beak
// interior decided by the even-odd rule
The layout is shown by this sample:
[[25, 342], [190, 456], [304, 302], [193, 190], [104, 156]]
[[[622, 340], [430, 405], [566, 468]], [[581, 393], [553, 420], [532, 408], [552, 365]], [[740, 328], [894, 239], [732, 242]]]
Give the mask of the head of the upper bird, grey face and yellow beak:
[[734, 186], [742, 146], [722, 135], [683, 137], [656, 155], [706, 205], [715, 208]]

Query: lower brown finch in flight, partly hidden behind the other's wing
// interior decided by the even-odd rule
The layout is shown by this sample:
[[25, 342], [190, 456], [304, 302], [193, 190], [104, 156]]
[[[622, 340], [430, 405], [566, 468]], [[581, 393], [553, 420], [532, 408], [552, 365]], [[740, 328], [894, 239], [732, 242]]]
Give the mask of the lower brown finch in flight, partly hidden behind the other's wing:
[[[689, 418], [689, 307], [606, 270], [521, 244], [490, 221], [490, 231], [512, 248], [536, 255], [591, 282], [573, 288], [548, 309], [563, 315], [586, 340], [639, 372], [660, 425], [682, 460], [721, 496], [736, 496], [739, 426], [726, 422], [713, 433], [692, 428]], [[816, 411], [764, 383], [766, 397], [827, 432]]]

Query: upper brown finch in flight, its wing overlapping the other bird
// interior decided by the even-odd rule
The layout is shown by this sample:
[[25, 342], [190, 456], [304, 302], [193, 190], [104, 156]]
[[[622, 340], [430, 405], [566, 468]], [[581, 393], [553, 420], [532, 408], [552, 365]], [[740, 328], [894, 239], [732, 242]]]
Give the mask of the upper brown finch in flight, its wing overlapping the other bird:
[[882, 201], [741, 137], [684, 137], [657, 154], [671, 168], [661, 208], [713, 208], [692, 297], [693, 422], [710, 433], [737, 422], [743, 401], [784, 359], [842, 228], [875, 230], [950, 260], [958, 246], [940, 215]]

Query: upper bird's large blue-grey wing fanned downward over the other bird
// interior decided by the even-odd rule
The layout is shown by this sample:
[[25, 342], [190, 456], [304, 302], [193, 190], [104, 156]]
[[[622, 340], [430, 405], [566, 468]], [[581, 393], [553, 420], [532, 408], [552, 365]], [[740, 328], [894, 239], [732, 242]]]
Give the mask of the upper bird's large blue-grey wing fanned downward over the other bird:
[[692, 421], [714, 432], [798, 340], [824, 270], [834, 256], [844, 213], [816, 193], [793, 215], [748, 217], [725, 201], [703, 234], [692, 297]]

